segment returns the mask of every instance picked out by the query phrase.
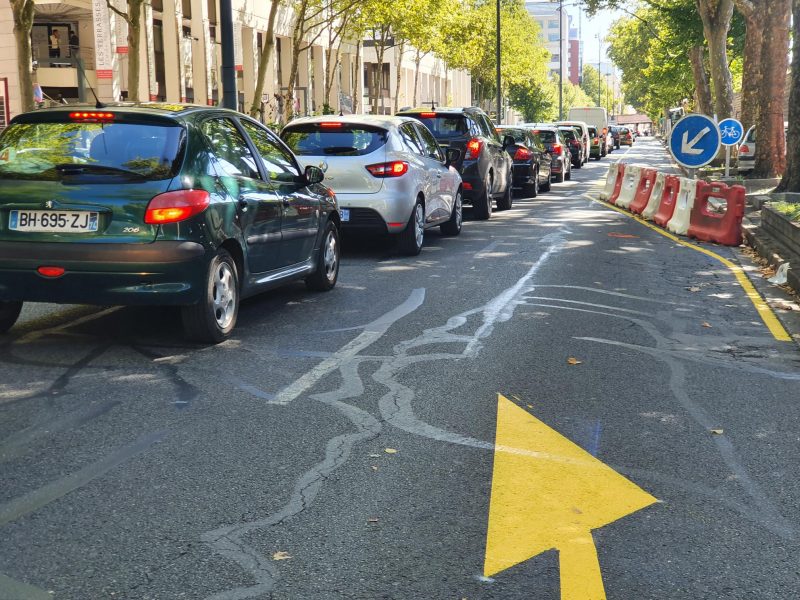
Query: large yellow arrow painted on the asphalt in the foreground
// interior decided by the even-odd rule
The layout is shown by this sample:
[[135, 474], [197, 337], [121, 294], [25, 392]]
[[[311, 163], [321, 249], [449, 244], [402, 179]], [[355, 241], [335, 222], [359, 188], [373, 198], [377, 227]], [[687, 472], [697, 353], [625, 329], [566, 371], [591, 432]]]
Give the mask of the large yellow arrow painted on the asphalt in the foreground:
[[592, 529], [656, 502], [591, 454], [498, 394], [483, 574], [558, 550], [562, 600], [603, 600]]

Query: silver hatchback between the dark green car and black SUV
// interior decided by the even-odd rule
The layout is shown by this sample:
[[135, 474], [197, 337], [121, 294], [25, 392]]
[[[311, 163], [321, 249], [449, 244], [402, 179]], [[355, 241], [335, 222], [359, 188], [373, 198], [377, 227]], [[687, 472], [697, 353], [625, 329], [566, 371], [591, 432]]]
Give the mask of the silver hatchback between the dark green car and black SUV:
[[336, 193], [341, 229], [398, 237], [403, 254], [422, 250], [425, 229], [461, 232], [461, 176], [428, 129], [410, 117], [306, 117], [284, 127], [283, 140], [303, 167], [325, 172]]

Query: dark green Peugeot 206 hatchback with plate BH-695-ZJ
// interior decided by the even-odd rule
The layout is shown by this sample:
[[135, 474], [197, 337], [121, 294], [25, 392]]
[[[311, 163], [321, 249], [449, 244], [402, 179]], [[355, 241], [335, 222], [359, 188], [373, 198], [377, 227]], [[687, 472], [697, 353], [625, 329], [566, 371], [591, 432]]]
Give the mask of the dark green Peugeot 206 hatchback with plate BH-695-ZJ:
[[220, 342], [240, 298], [339, 273], [322, 171], [248, 117], [172, 104], [59, 107], [0, 136], [0, 333], [22, 302], [180, 305]]

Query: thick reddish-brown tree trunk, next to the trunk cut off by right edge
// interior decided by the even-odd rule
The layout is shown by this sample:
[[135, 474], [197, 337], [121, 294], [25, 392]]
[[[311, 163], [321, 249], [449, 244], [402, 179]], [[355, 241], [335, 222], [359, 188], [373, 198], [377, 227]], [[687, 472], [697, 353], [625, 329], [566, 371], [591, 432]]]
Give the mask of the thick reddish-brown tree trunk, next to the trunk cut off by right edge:
[[775, 177], [786, 169], [786, 142], [783, 135], [783, 104], [786, 98], [786, 67], [789, 52], [791, 0], [764, 2], [764, 36], [761, 53], [761, 110], [756, 121], [756, 164], [753, 177]]

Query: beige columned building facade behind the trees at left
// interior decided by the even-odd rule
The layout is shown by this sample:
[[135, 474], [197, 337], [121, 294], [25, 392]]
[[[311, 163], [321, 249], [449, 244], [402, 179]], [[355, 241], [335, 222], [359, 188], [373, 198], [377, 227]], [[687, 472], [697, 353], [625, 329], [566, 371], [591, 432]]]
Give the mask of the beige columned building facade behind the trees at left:
[[[299, 53], [295, 94], [287, 97], [293, 62], [292, 34], [295, 14], [289, 3], [278, 9], [275, 45], [267, 68], [263, 94], [257, 102], [264, 122], [280, 121], [284, 103], [292, 102], [297, 115], [362, 112], [369, 105], [364, 83], [368, 52], [354, 40], [331, 39], [324, 25], [314, 28]], [[126, 0], [112, 0], [125, 13]], [[266, 44], [270, 2], [233, 0], [236, 88], [240, 110], [253, 104], [260, 51]], [[216, 105], [222, 99], [221, 31], [217, 0], [151, 0], [145, 2], [139, 51], [140, 100], [193, 102]], [[57, 46], [54, 47], [54, 36]], [[130, 48], [128, 27], [106, 0], [53, 0], [36, 3], [31, 32], [34, 95], [50, 103], [125, 100], [128, 90]], [[372, 59], [374, 61], [374, 57]], [[387, 53], [381, 70], [393, 79], [392, 56]], [[16, 43], [9, 0], [0, 0], [0, 104], [4, 114], [21, 111]], [[331, 63], [330, 65], [328, 63]], [[387, 64], [389, 63], [389, 64]], [[373, 69], [369, 66], [367, 72]], [[446, 73], [441, 61], [426, 57], [421, 64], [424, 96], [446, 87], [463, 98], [463, 72]], [[404, 90], [412, 76], [407, 59], [401, 67]], [[467, 76], [467, 81], [468, 81]], [[438, 88], [437, 88], [438, 86]], [[7, 88], [7, 92], [5, 89]], [[467, 85], [469, 90], [469, 85]], [[405, 92], [408, 95], [408, 92]], [[441, 93], [439, 93], [441, 95]], [[37, 97], [37, 100], [39, 98]], [[325, 106], [327, 105], [327, 106]], [[2, 127], [0, 122], [0, 127]]]

